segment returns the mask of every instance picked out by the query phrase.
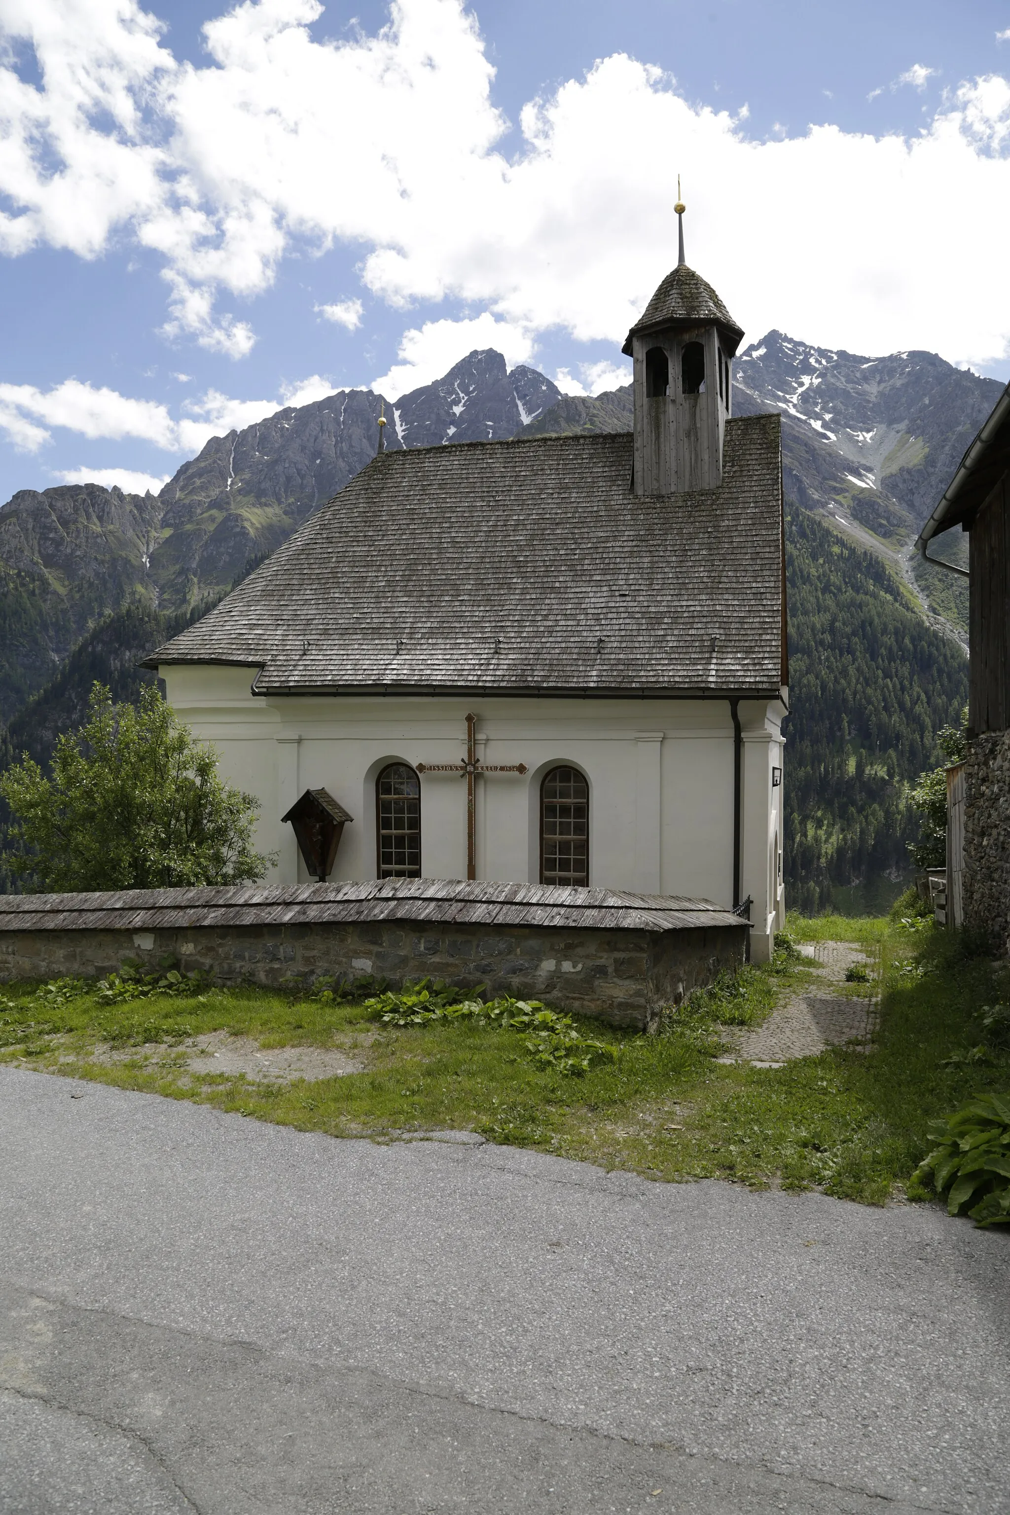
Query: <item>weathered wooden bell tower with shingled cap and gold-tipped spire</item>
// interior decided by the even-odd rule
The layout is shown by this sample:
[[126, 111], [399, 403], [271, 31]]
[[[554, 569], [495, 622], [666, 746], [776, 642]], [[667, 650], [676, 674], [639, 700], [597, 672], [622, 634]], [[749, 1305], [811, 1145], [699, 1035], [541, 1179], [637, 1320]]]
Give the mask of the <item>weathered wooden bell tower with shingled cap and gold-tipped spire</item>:
[[634, 361], [634, 494], [681, 494], [722, 483], [722, 435], [733, 414], [733, 358], [743, 336], [712, 285], [680, 261], [628, 332]]

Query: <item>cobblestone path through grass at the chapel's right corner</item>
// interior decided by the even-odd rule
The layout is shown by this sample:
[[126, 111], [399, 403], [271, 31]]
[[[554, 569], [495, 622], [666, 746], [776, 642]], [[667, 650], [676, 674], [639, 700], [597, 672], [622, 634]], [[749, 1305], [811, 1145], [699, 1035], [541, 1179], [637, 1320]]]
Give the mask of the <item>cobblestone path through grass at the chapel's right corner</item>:
[[859, 998], [831, 994], [833, 983], [845, 983], [845, 970], [869, 964], [848, 942], [803, 945], [822, 970], [821, 983], [810, 985], [784, 1000], [756, 1030], [725, 1029], [725, 1054], [719, 1062], [750, 1062], [757, 1068], [781, 1068], [793, 1057], [815, 1057], [825, 1047], [856, 1044], [869, 1047], [877, 1029], [877, 998], [872, 985]]

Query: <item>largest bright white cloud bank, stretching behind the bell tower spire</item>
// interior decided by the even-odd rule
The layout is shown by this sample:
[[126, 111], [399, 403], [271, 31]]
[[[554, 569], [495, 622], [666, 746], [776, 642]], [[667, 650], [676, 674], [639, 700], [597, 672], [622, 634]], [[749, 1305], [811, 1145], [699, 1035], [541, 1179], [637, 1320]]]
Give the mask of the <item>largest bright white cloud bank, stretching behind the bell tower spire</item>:
[[[0, 71], [2, 245], [95, 256], [129, 230], [164, 259], [167, 335], [241, 356], [248, 312], [220, 308], [268, 289], [288, 253], [342, 242], [363, 248], [376, 297], [451, 298], [528, 358], [548, 329], [619, 342], [669, 268], [672, 197], [656, 194], [651, 142], [671, 183], [674, 164], [684, 176], [690, 262], [751, 333], [974, 364], [1007, 348], [998, 74], [954, 88], [909, 138], [816, 126], [753, 141], [743, 112], [694, 106], [615, 55], [530, 102], [506, 142], [462, 0], [397, 0], [388, 26], [347, 41], [316, 42], [320, 14], [316, 0], [244, 0], [209, 23], [197, 67], [174, 61], [136, 0], [0, 0], [42, 76], [27, 83], [9, 59]], [[933, 73], [915, 64], [902, 80], [921, 89]], [[937, 215], [954, 185], [972, 236], [957, 300], [940, 300]], [[424, 382], [494, 341], [465, 326], [407, 332], [382, 382]], [[453, 329], [450, 351], [439, 333]], [[29, 412], [8, 423], [38, 445]]]

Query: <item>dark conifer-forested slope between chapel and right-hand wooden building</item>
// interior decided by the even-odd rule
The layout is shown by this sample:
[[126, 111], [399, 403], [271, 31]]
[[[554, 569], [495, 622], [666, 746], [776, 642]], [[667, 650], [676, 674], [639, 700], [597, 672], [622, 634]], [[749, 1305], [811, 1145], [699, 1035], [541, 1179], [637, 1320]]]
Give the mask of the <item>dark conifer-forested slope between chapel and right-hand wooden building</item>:
[[[906, 783], [943, 761], [968, 659], [924, 626], [890, 570], [795, 503], [786, 511], [789, 709], [784, 871], [790, 904], [910, 871]], [[886, 891], [872, 891], [880, 903]]]

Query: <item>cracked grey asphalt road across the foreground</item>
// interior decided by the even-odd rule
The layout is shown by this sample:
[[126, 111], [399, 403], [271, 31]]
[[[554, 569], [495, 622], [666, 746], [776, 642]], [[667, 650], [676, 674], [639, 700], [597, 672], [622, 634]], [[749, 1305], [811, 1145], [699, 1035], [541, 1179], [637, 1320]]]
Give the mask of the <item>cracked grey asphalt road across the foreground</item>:
[[0, 1154], [3, 1515], [1010, 1512], [1010, 1236], [936, 1207], [11, 1068]]

